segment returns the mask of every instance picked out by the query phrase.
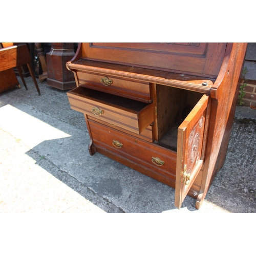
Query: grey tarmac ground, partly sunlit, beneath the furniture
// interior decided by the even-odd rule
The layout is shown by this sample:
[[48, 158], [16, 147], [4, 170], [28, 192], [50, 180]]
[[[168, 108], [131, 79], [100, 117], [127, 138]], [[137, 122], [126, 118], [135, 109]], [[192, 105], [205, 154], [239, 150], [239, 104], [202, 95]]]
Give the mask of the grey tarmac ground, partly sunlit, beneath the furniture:
[[[19, 79], [20, 80], [20, 79]], [[255, 213], [256, 110], [237, 106], [224, 166], [197, 210], [175, 189], [88, 151], [82, 113], [67, 91], [31, 77], [0, 94], [0, 213]]]

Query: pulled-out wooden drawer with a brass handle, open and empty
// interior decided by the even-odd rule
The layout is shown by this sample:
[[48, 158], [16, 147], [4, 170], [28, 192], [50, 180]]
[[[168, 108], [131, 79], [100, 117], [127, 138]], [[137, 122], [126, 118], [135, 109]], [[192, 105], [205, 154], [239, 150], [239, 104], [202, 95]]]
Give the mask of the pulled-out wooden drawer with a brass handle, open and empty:
[[88, 88], [67, 93], [71, 108], [88, 116], [140, 134], [154, 122], [154, 106]]

